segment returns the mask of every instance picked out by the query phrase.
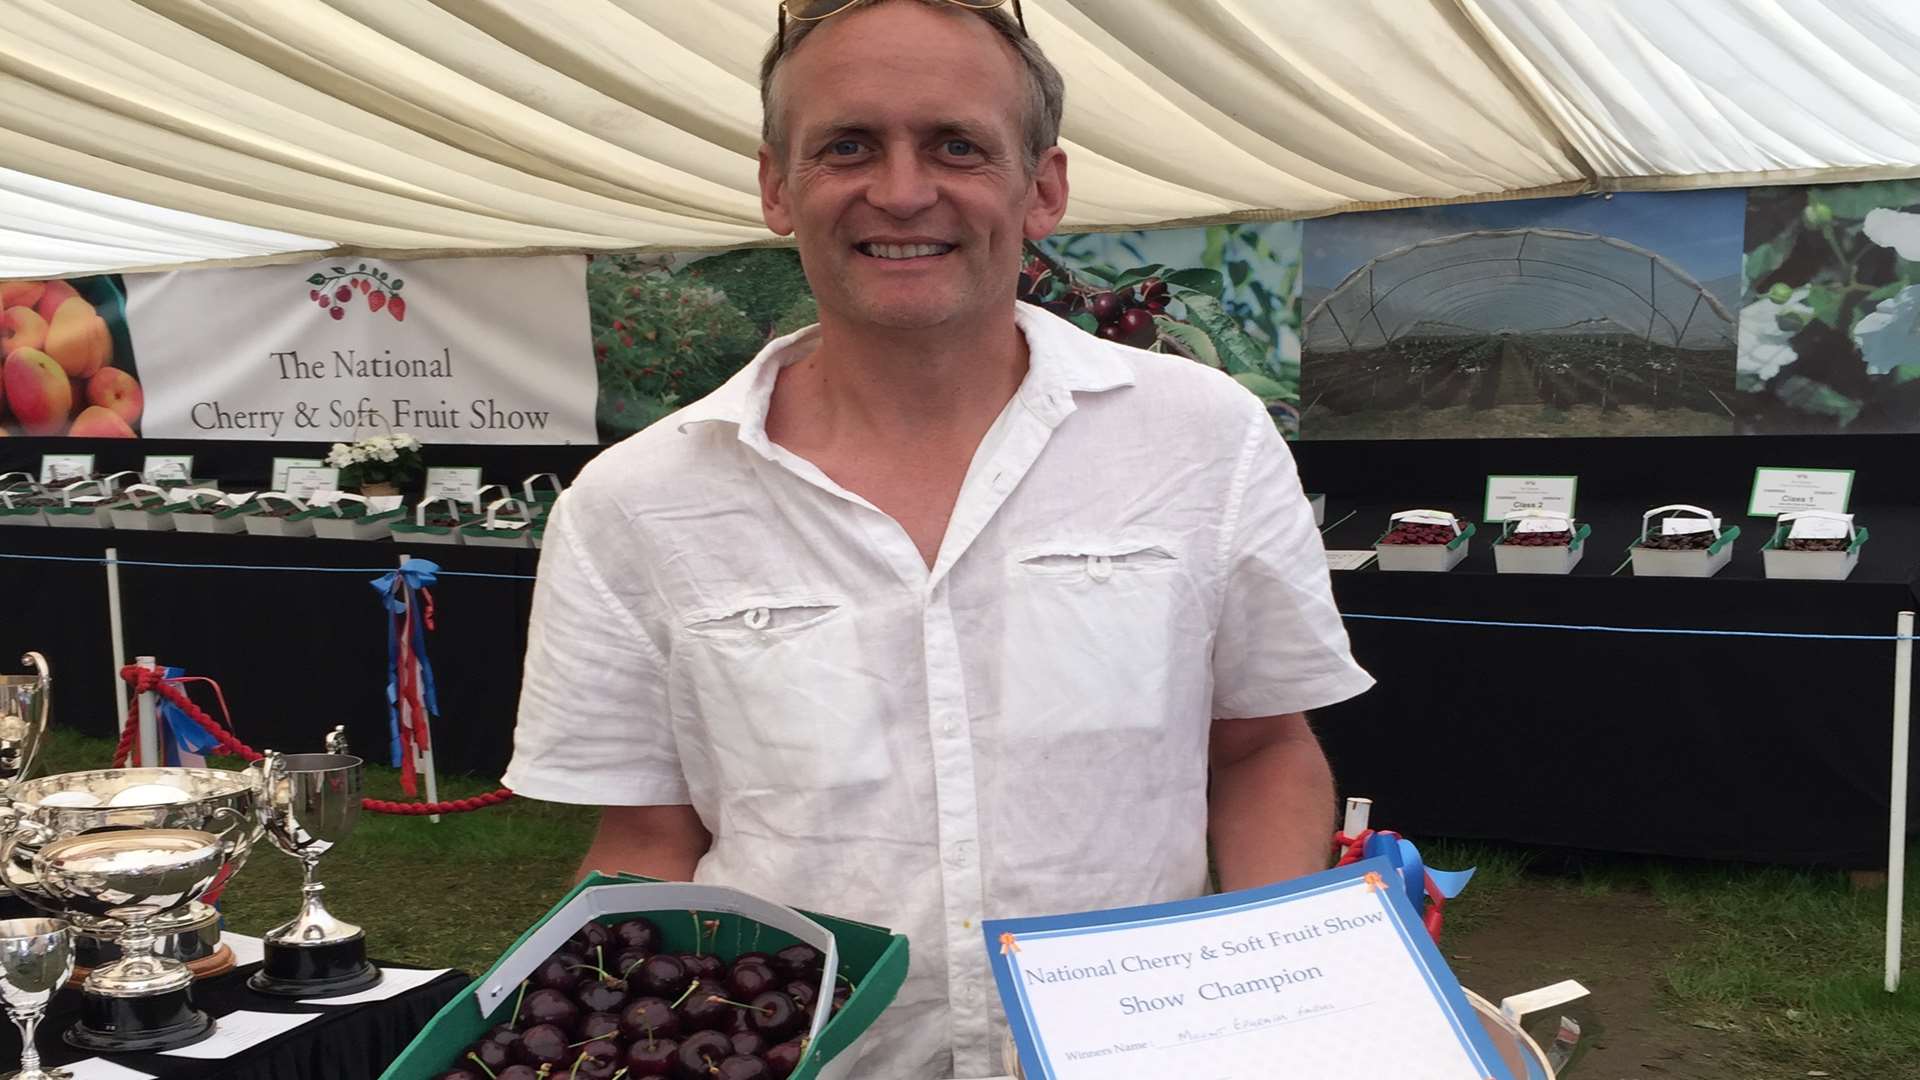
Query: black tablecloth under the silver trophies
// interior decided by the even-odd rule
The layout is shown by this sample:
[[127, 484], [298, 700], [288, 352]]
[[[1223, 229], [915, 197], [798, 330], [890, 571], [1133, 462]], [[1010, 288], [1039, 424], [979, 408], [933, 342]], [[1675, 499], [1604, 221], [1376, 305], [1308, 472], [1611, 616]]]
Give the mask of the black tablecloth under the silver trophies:
[[[426, 1026], [426, 1020], [470, 982], [461, 972], [445, 972], [386, 1001], [328, 1007], [253, 994], [246, 986], [246, 976], [257, 969], [259, 965], [246, 965], [230, 974], [196, 982], [194, 1003], [205, 1009], [215, 1024], [219, 1017], [234, 1011], [315, 1013], [317, 1019], [223, 1061], [165, 1053], [121, 1053], [109, 1061], [159, 1080], [374, 1080]], [[73, 1049], [60, 1038], [77, 1019], [79, 1005], [77, 990], [54, 997], [35, 1040], [44, 1065], [98, 1057]], [[8, 1026], [0, 1034], [0, 1067], [12, 1067], [15, 1061], [19, 1061], [19, 1034]]]

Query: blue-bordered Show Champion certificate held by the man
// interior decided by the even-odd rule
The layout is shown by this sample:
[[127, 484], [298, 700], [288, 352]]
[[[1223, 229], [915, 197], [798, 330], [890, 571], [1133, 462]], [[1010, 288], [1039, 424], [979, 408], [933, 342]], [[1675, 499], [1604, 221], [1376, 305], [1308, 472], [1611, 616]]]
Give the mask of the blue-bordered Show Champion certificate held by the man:
[[1392, 874], [985, 922], [1027, 1080], [1515, 1080]]

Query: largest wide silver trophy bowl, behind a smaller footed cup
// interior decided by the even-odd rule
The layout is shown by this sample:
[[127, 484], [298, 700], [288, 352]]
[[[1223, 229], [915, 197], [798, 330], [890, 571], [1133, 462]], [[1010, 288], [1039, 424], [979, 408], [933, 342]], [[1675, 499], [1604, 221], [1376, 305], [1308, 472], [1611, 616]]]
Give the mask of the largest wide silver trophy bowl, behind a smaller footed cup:
[[[90, 970], [119, 957], [117, 924], [73, 911], [46, 894], [35, 853], [48, 844], [127, 828], [194, 828], [225, 840], [225, 876], [259, 840], [259, 780], [221, 769], [90, 769], [13, 784], [12, 824], [0, 834], [0, 882], [48, 915], [71, 919], [75, 961]], [[194, 965], [200, 976], [232, 970], [221, 945], [219, 913], [188, 903], [152, 920], [157, 951]]]

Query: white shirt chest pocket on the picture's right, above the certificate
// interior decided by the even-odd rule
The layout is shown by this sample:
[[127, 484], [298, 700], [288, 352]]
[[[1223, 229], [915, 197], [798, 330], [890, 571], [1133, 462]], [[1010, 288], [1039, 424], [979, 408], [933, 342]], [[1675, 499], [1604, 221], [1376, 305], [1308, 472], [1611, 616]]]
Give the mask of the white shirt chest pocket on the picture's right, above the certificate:
[[1144, 732], [1165, 724], [1192, 673], [1190, 578], [1158, 540], [1068, 540], [1006, 567], [1002, 713], [1012, 732]]

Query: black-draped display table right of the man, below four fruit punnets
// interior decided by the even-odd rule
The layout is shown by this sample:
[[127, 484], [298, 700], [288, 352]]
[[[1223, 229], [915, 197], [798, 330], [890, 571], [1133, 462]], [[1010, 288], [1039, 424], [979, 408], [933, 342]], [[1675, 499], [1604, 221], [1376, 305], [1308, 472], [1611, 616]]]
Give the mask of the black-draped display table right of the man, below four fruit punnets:
[[[1430, 502], [1332, 500], [1329, 521], [1354, 517], [1327, 546], [1367, 548], [1388, 513]], [[1473, 513], [1455, 502], [1432, 505]], [[1893, 634], [1914, 607], [1910, 507], [1857, 507], [1872, 538], [1843, 582], [1764, 580], [1768, 528], [1743, 515], [1718, 577], [1634, 578], [1619, 567], [1642, 502], [1582, 498], [1592, 550], [1567, 577], [1496, 575], [1492, 528], [1450, 573], [1334, 573], [1354, 655], [1379, 680], [1315, 715], [1340, 790], [1409, 836], [1884, 865], [1891, 642], [1365, 619]]]

